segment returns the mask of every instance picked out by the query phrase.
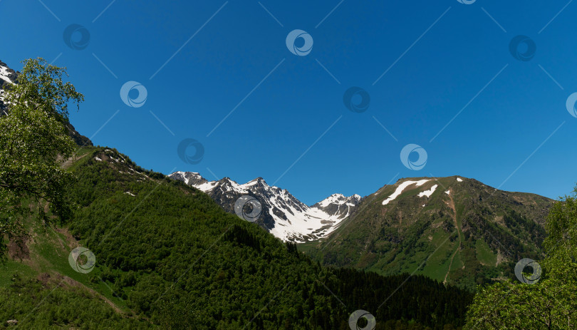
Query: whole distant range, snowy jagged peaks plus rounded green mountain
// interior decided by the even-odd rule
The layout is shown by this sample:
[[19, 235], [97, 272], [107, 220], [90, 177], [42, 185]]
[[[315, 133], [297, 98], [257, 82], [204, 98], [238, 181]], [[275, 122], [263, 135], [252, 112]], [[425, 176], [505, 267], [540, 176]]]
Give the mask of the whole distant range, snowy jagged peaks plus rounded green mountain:
[[303, 243], [299, 249], [323, 264], [416, 272], [469, 288], [511, 277], [519, 259], [538, 258], [553, 204], [460, 176], [402, 178], [363, 198], [334, 194], [311, 206], [262, 177], [240, 185], [197, 172], [169, 176], [206, 192], [227, 212], [235, 213], [242, 196], [258, 200], [261, 227]]

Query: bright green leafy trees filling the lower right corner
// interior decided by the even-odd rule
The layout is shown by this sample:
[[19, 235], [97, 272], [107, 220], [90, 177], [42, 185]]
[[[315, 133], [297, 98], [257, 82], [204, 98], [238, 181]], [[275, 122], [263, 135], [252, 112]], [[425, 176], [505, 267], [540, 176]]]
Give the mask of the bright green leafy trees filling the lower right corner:
[[467, 314], [466, 329], [577, 328], [577, 188], [551, 208], [546, 223], [544, 275], [536, 284], [484, 287]]

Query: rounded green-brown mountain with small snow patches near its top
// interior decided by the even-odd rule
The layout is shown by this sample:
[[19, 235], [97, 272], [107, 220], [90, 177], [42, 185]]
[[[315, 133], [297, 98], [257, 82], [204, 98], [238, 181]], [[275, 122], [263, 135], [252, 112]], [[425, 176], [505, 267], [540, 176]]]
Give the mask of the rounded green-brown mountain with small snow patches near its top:
[[327, 239], [301, 248], [324, 264], [474, 287], [511, 277], [519, 259], [541, 253], [552, 202], [464, 177], [401, 179], [365, 197]]

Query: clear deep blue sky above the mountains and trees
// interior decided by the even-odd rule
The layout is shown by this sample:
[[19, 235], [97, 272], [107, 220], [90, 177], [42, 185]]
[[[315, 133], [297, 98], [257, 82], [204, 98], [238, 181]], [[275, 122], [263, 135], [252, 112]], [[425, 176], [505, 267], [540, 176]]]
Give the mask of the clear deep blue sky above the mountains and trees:
[[[85, 94], [73, 125], [142, 167], [264, 177], [307, 204], [400, 177], [462, 175], [553, 198], [577, 181], [566, 109], [577, 3], [75, 2], [0, 0], [0, 60], [66, 66]], [[90, 33], [85, 48], [64, 42], [71, 24]], [[306, 56], [286, 46], [296, 29], [313, 40]], [[536, 45], [530, 61], [509, 51], [518, 35]], [[120, 98], [128, 81], [146, 89], [142, 106]], [[345, 107], [351, 87], [370, 96], [364, 112]], [[184, 139], [202, 143], [199, 163], [179, 157]], [[408, 144], [426, 150], [421, 170], [403, 165]]]

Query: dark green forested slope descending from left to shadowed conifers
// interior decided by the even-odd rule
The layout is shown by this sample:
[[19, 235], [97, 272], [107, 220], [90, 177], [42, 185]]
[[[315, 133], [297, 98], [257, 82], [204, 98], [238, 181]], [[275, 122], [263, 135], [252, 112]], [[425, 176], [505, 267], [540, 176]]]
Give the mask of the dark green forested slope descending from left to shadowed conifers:
[[[76, 212], [61, 232], [75, 239], [55, 244], [43, 238], [55, 234], [50, 229], [33, 232], [30, 259], [9, 260], [0, 273], [0, 317], [20, 320], [23, 329], [100, 329], [110, 322], [161, 329], [350, 329], [348, 318], [358, 309], [375, 316], [375, 329], [464, 324], [469, 292], [422, 276], [323, 268], [294, 244], [224, 212], [208, 195], [142, 170], [115, 150], [85, 149], [70, 168], [77, 180], [68, 187], [68, 201]], [[76, 239], [95, 254], [88, 274], [64, 266]], [[43, 284], [42, 272], [56, 283]], [[23, 279], [13, 281], [13, 273]], [[59, 274], [78, 287], [61, 283]], [[22, 292], [30, 298], [6, 308]], [[33, 301], [43, 297], [50, 304], [34, 309]], [[91, 312], [71, 314], [77, 306]]]

